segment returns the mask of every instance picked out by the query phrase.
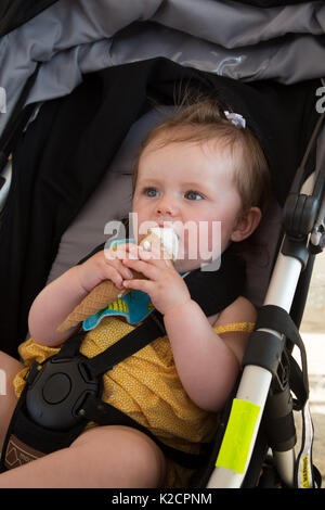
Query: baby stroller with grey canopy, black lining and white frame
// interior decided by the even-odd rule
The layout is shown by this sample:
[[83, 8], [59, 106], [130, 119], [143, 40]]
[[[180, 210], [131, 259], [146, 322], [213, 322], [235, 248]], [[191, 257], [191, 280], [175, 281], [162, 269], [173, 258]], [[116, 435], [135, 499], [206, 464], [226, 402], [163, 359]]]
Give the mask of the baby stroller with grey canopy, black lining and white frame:
[[[152, 100], [172, 109], [188, 84], [213, 90], [261, 140], [274, 202], [261, 228], [266, 262], [245, 254], [256, 331], [191, 487], [320, 486], [298, 330], [324, 243], [324, 54], [313, 21], [325, 7], [128, 3], [2, 2], [1, 349], [17, 356], [36, 295], [106, 240], [107, 221], [128, 213], [134, 153], [159, 122]], [[297, 459], [294, 410], [303, 420]]]

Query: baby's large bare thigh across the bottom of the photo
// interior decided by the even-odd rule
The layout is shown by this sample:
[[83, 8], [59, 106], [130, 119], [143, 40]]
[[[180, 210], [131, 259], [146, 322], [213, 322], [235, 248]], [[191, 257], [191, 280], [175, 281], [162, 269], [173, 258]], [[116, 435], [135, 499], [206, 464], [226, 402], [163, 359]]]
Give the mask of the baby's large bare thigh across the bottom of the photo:
[[165, 457], [145, 434], [119, 425], [96, 426], [69, 448], [0, 474], [10, 488], [144, 488], [164, 483]]

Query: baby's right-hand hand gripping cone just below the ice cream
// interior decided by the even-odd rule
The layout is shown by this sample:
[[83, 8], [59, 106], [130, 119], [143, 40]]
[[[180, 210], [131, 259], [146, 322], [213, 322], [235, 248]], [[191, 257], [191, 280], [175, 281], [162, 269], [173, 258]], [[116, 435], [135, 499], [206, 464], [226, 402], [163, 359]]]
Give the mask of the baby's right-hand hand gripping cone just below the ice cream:
[[[138, 253], [136, 259], [134, 259], [135, 252]], [[143, 273], [146, 280], [127, 279], [123, 286], [146, 292], [155, 308], [162, 315], [191, 301], [186, 283], [172, 263], [164, 258], [161, 253], [154, 250], [146, 252], [133, 245], [132, 254], [134, 254], [132, 259], [123, 259], [123, 266]]]

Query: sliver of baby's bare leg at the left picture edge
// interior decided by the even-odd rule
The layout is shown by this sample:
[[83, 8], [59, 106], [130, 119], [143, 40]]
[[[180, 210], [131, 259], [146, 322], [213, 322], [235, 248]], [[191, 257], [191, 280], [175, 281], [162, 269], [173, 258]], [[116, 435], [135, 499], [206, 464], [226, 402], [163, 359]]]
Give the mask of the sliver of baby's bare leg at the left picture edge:
[[6, 430], [17, 404], [13, 379], [24, 366], [5, 353], [0, 352], [0, 448], [5, 438]]

